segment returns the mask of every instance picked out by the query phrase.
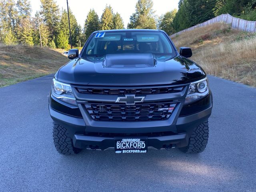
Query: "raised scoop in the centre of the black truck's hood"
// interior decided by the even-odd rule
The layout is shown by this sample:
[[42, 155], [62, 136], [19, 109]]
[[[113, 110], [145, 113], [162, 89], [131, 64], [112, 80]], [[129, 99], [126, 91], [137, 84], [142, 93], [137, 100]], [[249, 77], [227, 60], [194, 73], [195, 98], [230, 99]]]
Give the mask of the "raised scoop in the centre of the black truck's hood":
[[156, 60], [151, 53], [107, 54], [102, 64], [106, 68], [146, 68], [154, 67]]

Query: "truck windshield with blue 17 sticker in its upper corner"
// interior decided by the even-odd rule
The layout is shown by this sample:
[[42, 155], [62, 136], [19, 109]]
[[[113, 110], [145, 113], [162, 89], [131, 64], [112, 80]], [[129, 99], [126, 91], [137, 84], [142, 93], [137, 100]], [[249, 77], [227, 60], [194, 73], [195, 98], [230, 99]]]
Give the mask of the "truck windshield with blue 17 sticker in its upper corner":
[[172, 44], [162, 32], [120, 31], [94, 34], [82, 57], [123, 53], [152, 53], [162, 58], [176, 56]]

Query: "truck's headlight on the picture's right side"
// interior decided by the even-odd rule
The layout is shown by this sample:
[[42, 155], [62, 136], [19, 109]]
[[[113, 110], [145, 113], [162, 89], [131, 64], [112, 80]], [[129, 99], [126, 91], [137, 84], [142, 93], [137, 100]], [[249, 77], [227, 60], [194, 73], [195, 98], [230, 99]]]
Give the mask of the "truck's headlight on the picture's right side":
[[190, 83], [185, 104], [194, 102], [209, 94], [208, 78]]

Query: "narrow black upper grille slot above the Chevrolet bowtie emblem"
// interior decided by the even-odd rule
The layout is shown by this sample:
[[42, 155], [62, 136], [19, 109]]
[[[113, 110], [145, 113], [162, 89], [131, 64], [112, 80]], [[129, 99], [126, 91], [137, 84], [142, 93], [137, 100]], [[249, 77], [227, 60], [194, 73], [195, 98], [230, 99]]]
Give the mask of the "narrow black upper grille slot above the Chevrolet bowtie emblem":
[[125, 94], [164, 94], [164, 93], [178, 93], [184, 89], [184, 86], [161, 86], [155, 88], [95, 88], [86, 87], [76, 88], [79, 93], [82, 94], [104, 94], [104, 95], [125, 95]]

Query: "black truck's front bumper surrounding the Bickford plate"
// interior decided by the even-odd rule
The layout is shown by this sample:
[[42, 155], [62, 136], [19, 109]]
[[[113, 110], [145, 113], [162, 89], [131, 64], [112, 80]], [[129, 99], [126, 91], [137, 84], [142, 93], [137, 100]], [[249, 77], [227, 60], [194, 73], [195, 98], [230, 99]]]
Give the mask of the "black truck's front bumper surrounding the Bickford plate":
[[[187, 146], [195, 126], [208, 120], [212, 112], [211, 92], [198, 102], [200, 103], [199, 112], [180, 116], [183, 108], [183, 104], [180, 103], [169, 119], [151, 122], [97, 122], [90, 118], [82, 104], [78, 104], [82, 117], [70, 116], [52, 108], [51, 99], [53, 98], [50, 98], [50, 116], [54, 122], [67, 128], [74, 147], [100, 150], [113, 148], [115, 138], [142, 136], [148, 138], [148, 147], [156, 149], [166, 148], [166, 146], [178, 148]], [[191, 105], [192, 107], [195, 108]]]

